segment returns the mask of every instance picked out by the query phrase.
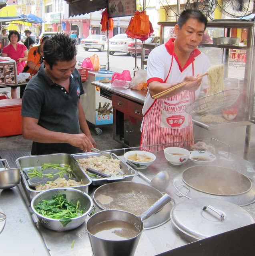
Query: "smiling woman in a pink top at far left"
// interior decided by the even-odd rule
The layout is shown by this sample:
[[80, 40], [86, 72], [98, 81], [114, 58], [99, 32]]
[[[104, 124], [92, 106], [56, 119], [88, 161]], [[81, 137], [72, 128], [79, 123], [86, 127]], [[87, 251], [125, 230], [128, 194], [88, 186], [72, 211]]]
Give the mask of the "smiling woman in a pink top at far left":
[[[19, 74], [24, 69], [26, 59], [28, 58], [28, 51], [24, 44], [18, 44], [20, 34], [16, 30], [10, 30], [8, 35], [10, 44], [2, 49], [3, 57], [10, 57], [17, 62], [17, 73]], [[11, 87], [12, 99], [17, 99], [17, 86]]]

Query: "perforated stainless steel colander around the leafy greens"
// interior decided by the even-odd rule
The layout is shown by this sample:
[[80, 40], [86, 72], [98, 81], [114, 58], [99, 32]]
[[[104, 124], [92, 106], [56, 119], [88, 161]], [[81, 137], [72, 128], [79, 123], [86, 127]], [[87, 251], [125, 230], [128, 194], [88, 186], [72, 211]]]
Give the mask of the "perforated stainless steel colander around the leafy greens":
[[[72, 221], [69, 222], [65, 227], [62, 225], [60, 220], [47, 218], [35, 210], [35, 206], [38, 203], [41, 203], [42, 200], [50, 200], [53, 196], [58, 196], [58, 194], [66, 194], [66, 200], [77, 204], [78, 200], [80, 204], [78, 206], [79, 210], [82, 210], [82, 215], [76, 218], [72, 218]], [[74, 188], [54, 188], [48, 189], [37, 194], [31, 201], [31, 208], [33, 212], [36, 214], [39, 222], [48, 229], [54, 231], [66, 231], [72, 230], [74, 228], [78, 228], [86, 219], [86, 215], [92, 210], [93, 202], [90, 196], [85, 194], [84, 192], [74, 189]]]

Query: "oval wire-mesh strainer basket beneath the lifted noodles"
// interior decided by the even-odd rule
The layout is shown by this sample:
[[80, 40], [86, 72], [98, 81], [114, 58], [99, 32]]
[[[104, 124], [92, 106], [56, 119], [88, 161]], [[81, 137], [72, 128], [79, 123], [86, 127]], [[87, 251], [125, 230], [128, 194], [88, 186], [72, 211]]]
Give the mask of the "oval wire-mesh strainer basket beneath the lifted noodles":
[[185, 112], [193, 115], [205, 115], [210, 112], [217, 111], [218, 109], [224, 109], [235, 103], [240, 95], [239, 89], [228, 89], [219, 93], [214, 93], [209, 96], [197, 99], [193, 103], [189, 104]]

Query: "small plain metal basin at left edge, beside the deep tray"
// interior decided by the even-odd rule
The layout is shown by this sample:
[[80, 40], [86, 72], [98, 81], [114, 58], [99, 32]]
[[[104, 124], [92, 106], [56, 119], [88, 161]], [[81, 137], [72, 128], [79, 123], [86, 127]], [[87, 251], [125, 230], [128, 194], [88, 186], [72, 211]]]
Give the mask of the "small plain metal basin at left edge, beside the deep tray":
[[0, 171], [0, 189], [12, 188], [20, 183], [20, 169], [4, 169]]

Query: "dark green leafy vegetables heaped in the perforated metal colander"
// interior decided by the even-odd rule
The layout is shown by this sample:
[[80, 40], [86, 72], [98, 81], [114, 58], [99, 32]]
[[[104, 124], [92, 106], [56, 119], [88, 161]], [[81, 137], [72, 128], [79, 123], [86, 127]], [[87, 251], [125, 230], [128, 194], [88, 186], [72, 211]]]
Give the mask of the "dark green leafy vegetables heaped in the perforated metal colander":
[[66, 200], [66, 194], [58, 194], [50, 200], [42, 200], [34, 208], [39, 213], [47, 218], [60, 220], [65, 227], [72, 218], [82, 215], [82, 210], [78, 210], [79, 201], [77, 204]]

